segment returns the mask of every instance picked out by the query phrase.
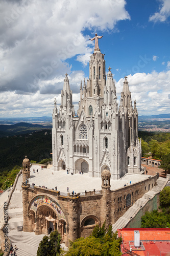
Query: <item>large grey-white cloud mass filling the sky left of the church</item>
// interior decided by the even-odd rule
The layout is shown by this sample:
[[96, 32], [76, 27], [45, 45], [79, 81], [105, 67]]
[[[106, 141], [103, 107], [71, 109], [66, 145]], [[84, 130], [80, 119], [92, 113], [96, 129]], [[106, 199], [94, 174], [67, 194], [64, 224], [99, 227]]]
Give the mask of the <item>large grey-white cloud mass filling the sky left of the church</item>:
[[[73, 92], [77, 93], [76, 79], [82, 79], [84, 73], [74, 73], [68, 60], [76, 56], [87, 65], [94, 42], [88, 40], [91, 34], [84, 31], [112, 30], [119, 20], [130, 19], [125, 5], [125, 0], [2, 0], [0, 97], [6, 101], [1, 114], [9, 115], [8, 102], [13, 100], [18, 103], [11, 115], [30, 114], [25, 100], [29, 105], [33, 103], [28, 109], [37, 114], [42, 110], [42, 102], [46, 104], [45, 97], [49, 108], [53, 95], [60, 94], [66, 72], [72, 79]], [[34, 104], [35, 95], [38, 100]]]

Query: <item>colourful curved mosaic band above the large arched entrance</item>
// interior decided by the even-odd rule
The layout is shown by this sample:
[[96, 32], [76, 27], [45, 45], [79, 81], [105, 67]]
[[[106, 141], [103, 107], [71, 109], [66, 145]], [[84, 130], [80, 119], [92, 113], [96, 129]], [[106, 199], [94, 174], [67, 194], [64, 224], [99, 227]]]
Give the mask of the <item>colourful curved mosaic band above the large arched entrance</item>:
[[37, 196], [34, 198], [30, 210], [34, 210], [35, 213], [37, 212], [37, 209], [39, 206], [41, 205], [50, 205], [54, 208], [54, 210], [57, 213], [57, 217], [58, 219], [65, 219], [64, 213], [61, 209], [61, 207], [59, 206], [59, 204], [57, 202], [55, 202], [53, 199], [51, 199], [50, 197], [46, 197], [46, 196]]

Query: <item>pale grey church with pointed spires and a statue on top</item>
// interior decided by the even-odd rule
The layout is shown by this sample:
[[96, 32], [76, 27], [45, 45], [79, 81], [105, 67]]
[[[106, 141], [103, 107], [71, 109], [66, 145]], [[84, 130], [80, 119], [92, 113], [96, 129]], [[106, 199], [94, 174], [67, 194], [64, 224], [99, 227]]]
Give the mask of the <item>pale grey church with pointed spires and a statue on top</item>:
[[68, 169], [72, 174], [88, 173], [101, 177], [107, 167], [111, 179], [141, 170], [141, 142], [138, 140], [136, 100], [125, 77], [120, 104], [116, 87], [108, 68], [106, 76], [104, 54], [95, 37], [95, 48], [89, 60], [89, 79], [80, 83], [79, 109], [75, 114], [68, 75], [65, 74], [61, 105], [53, 110], [53, 167]]

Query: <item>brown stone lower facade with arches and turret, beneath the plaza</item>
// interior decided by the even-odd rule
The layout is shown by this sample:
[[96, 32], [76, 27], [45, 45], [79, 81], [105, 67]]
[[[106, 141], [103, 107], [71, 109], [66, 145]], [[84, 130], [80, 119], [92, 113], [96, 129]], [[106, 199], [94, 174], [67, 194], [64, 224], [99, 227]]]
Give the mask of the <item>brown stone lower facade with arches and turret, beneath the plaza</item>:
[[22, 183], [23, 231], [48, 234], [58, 229], [62, 241], [69, 245], [80, 237], [87, 237], [98, 223], [114, 224], [127, 209], [155, 185], [158, 176], [148, 178], [116, 190], [110, 190], [110, 172], [102, 173], [102, 190], [77, 195], [63, 195], [60, 191], [31, 187]]

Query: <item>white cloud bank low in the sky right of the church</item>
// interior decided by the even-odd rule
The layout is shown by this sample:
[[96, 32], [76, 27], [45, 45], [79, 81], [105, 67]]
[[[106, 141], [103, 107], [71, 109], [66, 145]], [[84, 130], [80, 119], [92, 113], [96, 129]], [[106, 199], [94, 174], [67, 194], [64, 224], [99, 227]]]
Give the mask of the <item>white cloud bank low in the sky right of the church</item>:
[[[158, 111], [169, 113], [169, 87], [170, 71], [152, 73], [136, 73], [128, 76], [129, 89], [132, 93], [132, 100], [136, 99], [139, 115], [156, 115]], [[116, 84], [118, 98], [123, 89], [124, 79]]]

